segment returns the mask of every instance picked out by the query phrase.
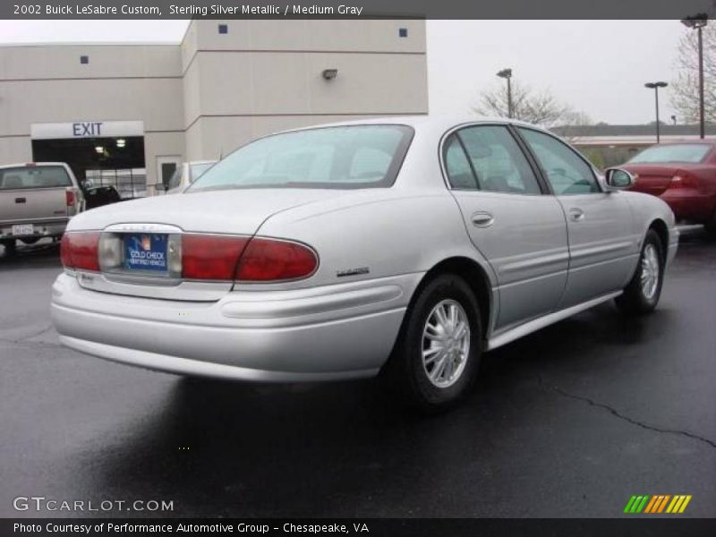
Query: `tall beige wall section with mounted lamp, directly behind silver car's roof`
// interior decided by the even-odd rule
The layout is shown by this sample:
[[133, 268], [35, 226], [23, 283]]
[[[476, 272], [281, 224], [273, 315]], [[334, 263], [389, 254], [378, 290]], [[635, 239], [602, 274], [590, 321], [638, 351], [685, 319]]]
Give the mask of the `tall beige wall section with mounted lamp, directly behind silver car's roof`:
[[192, 21], [182, 48], [191, 160], [287, 128], [428, 112], [424, 21]]

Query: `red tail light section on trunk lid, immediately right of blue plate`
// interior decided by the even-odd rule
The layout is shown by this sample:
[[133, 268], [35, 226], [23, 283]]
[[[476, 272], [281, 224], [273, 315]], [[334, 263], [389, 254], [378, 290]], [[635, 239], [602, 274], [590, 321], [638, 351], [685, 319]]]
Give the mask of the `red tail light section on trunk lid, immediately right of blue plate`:
[[182, 277], [233, 280], [236, 263], [248, 242], [248, 237], [184, 234]]

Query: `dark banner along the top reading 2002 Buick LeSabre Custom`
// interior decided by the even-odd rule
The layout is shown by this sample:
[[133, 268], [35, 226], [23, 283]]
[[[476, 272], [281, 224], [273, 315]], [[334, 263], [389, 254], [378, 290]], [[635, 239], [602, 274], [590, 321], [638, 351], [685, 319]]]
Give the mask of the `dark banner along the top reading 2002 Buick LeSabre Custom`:
[[4, 0], [3, 19], [684, 19], [716, 0]]

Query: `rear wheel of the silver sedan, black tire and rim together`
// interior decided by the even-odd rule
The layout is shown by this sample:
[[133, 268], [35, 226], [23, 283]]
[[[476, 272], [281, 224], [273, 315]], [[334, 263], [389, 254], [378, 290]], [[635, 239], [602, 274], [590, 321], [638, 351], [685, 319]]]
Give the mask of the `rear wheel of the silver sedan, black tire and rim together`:
[[406, 313], [386, 372], [410, 405], [438, 413], [473, 386], [481, 354], [473, 292], [463, 278], [444, 274], [422, 288]]

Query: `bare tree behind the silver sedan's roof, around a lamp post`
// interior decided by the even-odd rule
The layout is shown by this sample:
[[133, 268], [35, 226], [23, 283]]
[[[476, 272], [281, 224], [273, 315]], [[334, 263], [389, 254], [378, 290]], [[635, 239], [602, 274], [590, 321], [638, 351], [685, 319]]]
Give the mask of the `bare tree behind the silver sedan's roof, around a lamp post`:
[[[546, 128], [573, 122], [592, 124], [589, 116], [559, 102], [549, 90], [533, 90], [516, 81], [512, 82], [512, 111], [515, 119]], [[507, 90], [504, 85], [482, 91], [480, 102], [473, 107], [473, 112], [507, 117]]]

